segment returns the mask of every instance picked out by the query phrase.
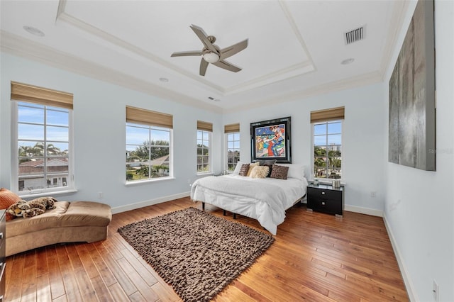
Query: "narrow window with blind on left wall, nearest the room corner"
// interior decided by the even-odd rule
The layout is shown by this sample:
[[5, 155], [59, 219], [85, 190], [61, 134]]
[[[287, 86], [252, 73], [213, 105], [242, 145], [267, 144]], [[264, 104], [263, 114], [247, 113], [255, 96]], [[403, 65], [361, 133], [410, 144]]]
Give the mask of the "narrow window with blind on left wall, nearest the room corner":
[[197, 121], [197, 173], [211, 172], [211, 133], [213, 124]]

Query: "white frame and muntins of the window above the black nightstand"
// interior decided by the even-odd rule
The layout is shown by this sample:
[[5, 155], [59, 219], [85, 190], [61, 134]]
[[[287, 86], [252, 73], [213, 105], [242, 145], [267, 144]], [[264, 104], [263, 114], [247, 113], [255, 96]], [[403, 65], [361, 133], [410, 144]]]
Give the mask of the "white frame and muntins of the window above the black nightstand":
[[[341, 123], [341, 133], [328, 133], [328, 124], [330, 123]], [[328, 164], [326, 164], [326, 175], [327, 177], [316, 177], [315, 175], [315, 153], [314, 153], [314, 150], [315, 150], [315, 147], [316, 147], [316, 142], [315, 142], [315, 138], [316, 136], [322, 136], [322, 135], [316, 135], [315, 134], [315, 125], [323, 125], [325, 124], [326, 125], [326, 133], [324, 134], [326, 136], [326, 144], [323, 145], [323, 147], [325, 147], [325, 150], [326, 150], [326, 163], [328, 163], [328, 135], [341, 135], [341, 156], [339, 157], [341, 159], [341, 178], [328, 178], [328, 170], [330, 169], [330, 167], [328, 166]], [[331, 183], [331, 181], [333, 181], [333, 179], [336, 179], [336, 180], [340, 180], [340, 181], [343, 181], [343, 155], [344, 155], [344, 152], [343, 152], [343, 118], [338, 118], [338, 119], [330, 119], [330, 120], [327, 120], [327, 121], [316, 121], [314, 123], [311, 123], [311, 177], [312, 179], [319, 179], [319, 182], [320, 183]]]

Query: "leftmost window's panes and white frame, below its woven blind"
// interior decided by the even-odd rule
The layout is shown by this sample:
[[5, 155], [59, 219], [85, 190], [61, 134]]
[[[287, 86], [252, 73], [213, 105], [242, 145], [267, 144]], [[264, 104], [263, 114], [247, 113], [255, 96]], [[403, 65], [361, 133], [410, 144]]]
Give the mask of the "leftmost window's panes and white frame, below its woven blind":
[[68, 189], [71, 109], [17, 103], [17, 189]]

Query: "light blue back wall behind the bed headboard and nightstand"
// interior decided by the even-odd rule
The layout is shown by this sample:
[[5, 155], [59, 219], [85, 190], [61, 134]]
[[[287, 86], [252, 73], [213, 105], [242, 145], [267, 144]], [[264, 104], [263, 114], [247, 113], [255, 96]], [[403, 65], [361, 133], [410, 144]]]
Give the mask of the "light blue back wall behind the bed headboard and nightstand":
[[[240, 123], [241, 160], [250, 161], [250, 123], [292, 117], [292, 162], [311, 167], [311, 111], [345, 106], [343, 121], [342, 173], [345, 210], [382, 215], [384, 208], [384, 165], [382, 84], [347, 89], [240, 113], [224, 114], [226, 124]], [[371, 192], [375, 191], [375, 197]]]

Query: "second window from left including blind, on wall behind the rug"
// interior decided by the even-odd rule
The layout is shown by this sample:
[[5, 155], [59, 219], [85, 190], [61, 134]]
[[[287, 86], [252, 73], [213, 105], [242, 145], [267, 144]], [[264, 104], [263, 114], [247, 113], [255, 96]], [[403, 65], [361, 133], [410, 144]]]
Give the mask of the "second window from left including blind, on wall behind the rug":
[[126, 182], [172, 177], [172, 115], [126, 107]]

